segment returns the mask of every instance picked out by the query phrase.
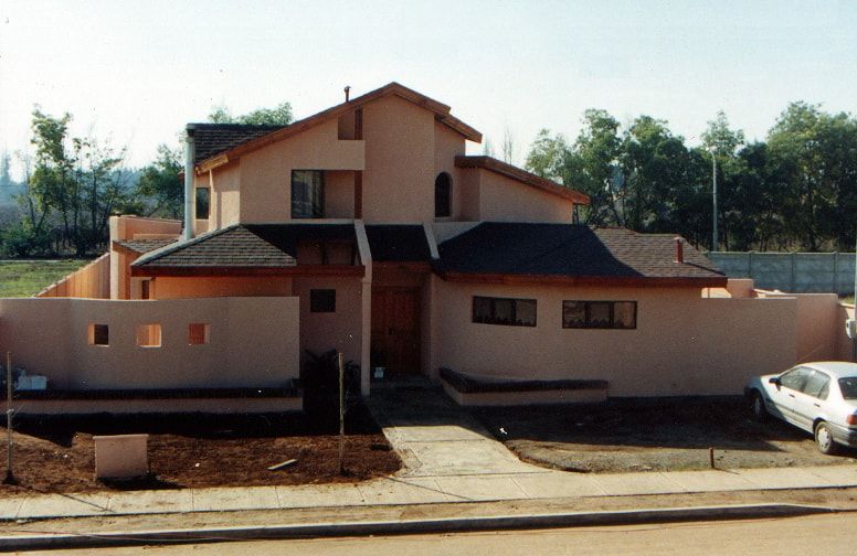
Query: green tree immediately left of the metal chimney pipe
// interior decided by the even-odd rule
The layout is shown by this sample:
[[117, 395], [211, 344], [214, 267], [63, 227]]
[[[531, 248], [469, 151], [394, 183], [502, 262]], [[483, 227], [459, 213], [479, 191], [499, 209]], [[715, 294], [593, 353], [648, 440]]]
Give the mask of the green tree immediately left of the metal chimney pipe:
[[181, 151], [159, 145], [158, 158], [142, 169], [137, 183], [137, 194], [155, 202], [155, 206], [147, 211], [149, 216], [180, 217], [184, 200], [184, 185], [179, 180], [181, 170]]

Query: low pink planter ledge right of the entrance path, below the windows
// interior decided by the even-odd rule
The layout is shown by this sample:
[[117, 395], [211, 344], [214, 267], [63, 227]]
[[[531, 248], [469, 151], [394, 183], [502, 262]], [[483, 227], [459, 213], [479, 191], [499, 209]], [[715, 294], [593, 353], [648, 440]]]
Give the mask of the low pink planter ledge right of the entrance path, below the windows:
[[462, 406], [593, 404], [607, 399], [607, 381], [522, 381], [441, 368], [446, 394]]

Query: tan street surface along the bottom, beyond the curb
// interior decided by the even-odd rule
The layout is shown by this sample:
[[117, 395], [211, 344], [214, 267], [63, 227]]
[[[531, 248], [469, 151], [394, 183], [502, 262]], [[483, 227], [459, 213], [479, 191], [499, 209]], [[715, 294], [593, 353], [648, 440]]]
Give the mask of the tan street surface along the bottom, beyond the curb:
[[[580, 527], [546, 531], [414, 535], [308, 541], [258, 541], [147, 547], [147, 554], [467, 554], [639, 555], [639, 554], [853, 554], [855, 514], [782, 520], [673, 523], [637, 526]], [[86, 554], [138, 554], [139, 547], [85, 550]], [[68, 550], [65, 554], [83, 554]], [[27, 554], [55, 555], [56, 552]]]

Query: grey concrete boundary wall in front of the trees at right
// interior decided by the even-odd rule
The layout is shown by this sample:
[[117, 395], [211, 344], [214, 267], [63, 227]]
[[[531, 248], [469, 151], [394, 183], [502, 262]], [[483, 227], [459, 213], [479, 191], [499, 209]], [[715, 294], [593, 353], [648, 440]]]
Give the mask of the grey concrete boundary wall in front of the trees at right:
[[854, 253], [709, 252], [730, 278], [752, 278], [762, 289], [854, 295]]

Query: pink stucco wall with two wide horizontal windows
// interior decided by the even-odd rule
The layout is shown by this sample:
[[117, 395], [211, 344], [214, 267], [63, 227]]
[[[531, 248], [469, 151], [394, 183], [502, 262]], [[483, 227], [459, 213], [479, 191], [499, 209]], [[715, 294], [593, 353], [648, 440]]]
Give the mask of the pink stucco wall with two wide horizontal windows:
[[[794, 298], [433, 281], [433, 372], [600, 378], [609, 381], [611, 396], [739, 395], [750, 376], [795, 362]], [[536, 299], [537, 327], [473, 323], [473, 296]], [[637, 329], [563, 329], [563, 300], [637, 301]]]

